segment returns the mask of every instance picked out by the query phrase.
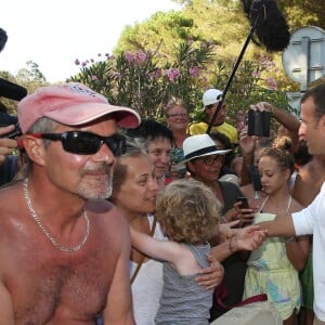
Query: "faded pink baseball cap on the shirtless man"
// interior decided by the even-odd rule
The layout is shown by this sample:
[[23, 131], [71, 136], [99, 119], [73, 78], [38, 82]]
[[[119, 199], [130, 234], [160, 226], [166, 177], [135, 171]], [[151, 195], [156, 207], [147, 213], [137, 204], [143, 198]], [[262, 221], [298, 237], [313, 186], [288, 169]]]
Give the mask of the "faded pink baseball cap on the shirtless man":
[[110, 114], [123, 128], [136, 128], [141, 121], [132, 108], [110, 105], [103, 95], [78, 82], [41, 87], [17, 105], [23, 133], [43, 116], [63, 125], [80, 126]]

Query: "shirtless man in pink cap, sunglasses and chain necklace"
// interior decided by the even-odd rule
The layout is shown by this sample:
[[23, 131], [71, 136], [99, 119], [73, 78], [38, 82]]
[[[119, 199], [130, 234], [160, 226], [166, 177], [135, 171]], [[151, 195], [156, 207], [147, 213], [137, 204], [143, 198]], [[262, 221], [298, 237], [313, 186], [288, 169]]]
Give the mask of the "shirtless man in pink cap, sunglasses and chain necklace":
[[0, 324], [134, 324], [126, 219], [105, 200], [117, 126], [139, 115], [80, 83], [18, 104], [25, 180], [0, 191]]

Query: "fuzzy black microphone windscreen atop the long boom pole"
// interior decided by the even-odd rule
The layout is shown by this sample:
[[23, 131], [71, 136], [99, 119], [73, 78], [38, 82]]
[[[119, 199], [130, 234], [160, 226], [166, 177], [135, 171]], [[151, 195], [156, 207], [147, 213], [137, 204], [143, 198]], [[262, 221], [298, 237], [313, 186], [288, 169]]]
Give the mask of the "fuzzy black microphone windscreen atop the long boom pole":
[[255, 43], [264, 46], [268, 51], [287, 48], [290, 41], [289, 27], [275, 0], [243, 0], [243, 6], [258, 38], [258, 41], [252, 38]]

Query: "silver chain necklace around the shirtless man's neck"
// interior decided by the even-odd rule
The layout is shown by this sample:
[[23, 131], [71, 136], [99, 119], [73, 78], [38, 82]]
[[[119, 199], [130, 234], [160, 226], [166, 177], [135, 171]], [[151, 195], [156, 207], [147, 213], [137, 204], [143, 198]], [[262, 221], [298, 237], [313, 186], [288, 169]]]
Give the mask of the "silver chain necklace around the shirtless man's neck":
[[89, 221], [89, 218], [87, 216], [87, 212], [86, 212], [86, 209], [83, 209], [83, 218], [86, 220], [86, 234], [84, 234], [84, 237], [83, 239], [75, 247], [66, 247], [66, 246], [62, 246], [57, 243], [57, 240], [52, 236], [52, 234], [49, 232], [49, 230], [42, 224], [42, 221], [41, 219], [36, 214], [36, 211], [32, 207], [32, 204], [31, 204], [31, 199], [30, 199], [30, 196], [29, 196], [29, 192], [28, 192], [28, 179], [25, 179], [24, 180], [24, 183], [23, 183], [23, 186], [24, 186], [24, 195], [25, 195], [25, 199], [26, 199], [26, 203], [27, 203], [27, 206], [28, 206], [28, 209], [29, 209], [29, 212], [31, 214], [31, 217], [34, 218], [34, 220], [36, 221], [37, 225], [40, 227], [40, 230], [44, 233], [44, 235], [50, 239], [50, 242], [53, 244], [53, 246], [61, 250], [61, 251], [65, 251], [65, 252], [74, 252], [74, 251], [78, 251], [80, 250], [83, 245], [86, 244], [87, 239], [88, 239], [88, 236], [89, 236], [89, 229], [90, 229], [90, 221]]

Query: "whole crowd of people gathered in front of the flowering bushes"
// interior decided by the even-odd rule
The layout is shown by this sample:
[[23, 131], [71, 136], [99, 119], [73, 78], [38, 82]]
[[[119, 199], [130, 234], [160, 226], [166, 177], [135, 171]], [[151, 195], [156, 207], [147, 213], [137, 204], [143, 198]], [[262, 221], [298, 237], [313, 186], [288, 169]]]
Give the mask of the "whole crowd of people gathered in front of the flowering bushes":
[[252, 105], [281, 126], [268, 138], [226, 122], [225, 103], [207, 134], [220, 101], [207, 90], [196, 123], [180, 99], [161, 122], [81, 83], [18, 102], [23, 134], [0, 127], [0, 165], [21, 155], [0, 190], [5, 324], [203, 325], [227, 311], [221, 290], [325, 324], [325, 86], [300, 120]]

